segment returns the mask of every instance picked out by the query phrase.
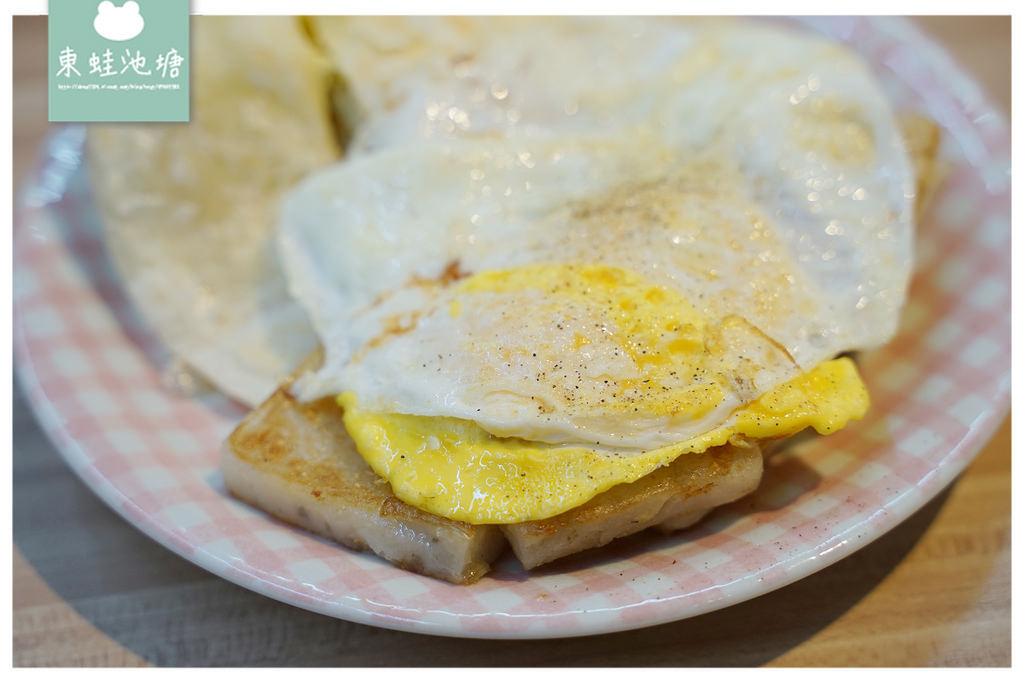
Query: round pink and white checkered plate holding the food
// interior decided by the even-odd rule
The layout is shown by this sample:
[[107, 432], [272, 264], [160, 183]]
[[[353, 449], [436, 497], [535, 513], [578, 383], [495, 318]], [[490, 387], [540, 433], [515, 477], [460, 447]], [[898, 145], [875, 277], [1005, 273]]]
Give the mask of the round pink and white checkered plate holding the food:
[[949, 172], [920, 226], [899, 336], [859, 356], [863, 421], [772, 457], [760, 489], [672, 537], [640, 533], [526, 572], [450, 586], [230, 498], [218, 446], [242, 407], [182, 391], [100, 238], [81, 127], [49, 140], [14, 228], [22, 386], [71, 468], [143, 532], [271, 598], [390, 629], [479, 638], [605, 633], [780, 588], [878, 539], [938, 494], [1010, 402], [1010, 137], [978, 87], [907, 22], [803, 19], [849, 43], [899, 110], [944, 130]]

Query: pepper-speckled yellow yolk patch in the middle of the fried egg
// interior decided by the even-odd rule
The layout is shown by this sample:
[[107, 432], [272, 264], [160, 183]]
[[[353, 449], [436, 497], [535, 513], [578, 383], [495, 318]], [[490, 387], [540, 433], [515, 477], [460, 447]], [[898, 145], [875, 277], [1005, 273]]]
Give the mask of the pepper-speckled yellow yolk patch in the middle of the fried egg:
[[[722, 403], [735, 371], [707, 347], [714, 331], [682, 294], [626, 268], [486, 270], [461, 282], [455, 297], [453, 317], [474, 304], [517, 313], [508, 329], [468, 345], [477, 357], [529, 369], [532, 384], [509, 386], [528, 386], [547, 413], [609, 416], [609, 424], [621, 424], [623, 413], [691, 422]], [[543, 331], [540, 341], [525, 337], [525, 321]]]

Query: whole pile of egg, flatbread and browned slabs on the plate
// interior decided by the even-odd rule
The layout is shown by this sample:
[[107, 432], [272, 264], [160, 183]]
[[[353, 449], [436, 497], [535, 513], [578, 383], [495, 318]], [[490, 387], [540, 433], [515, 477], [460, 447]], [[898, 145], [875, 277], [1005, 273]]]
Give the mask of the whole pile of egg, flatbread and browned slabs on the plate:
[[[124, 283], [252, 407], [231, 493], [456, 583], [753, 492], [861, 418], [936, 129], [739, 19], [197, 17], [193, 120], [89, 133]], [[923, 180], [924, 179], [924, 180]]]

